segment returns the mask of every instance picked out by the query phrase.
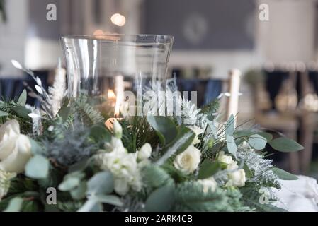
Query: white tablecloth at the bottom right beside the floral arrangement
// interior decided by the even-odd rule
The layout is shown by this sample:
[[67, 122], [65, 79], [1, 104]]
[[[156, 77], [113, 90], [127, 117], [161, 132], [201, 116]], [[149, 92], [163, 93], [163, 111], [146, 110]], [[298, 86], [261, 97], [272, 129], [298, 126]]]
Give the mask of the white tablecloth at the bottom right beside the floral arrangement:
[[293, 181], [280, 181], [282, 189], [274, 190], [279, 198], [275, 205], [291, 212], [318, 212], [318, 184], [311, 177], [297, 176]]

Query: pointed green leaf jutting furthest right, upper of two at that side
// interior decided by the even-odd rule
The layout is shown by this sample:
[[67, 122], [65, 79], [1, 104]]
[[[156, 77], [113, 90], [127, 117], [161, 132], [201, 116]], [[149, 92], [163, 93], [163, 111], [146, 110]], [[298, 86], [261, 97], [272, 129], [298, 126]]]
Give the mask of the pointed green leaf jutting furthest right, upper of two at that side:
[[280, 137], [268, 142], [272, 148], [283, 153], [295, 152], [304, 149], [302, 145], [290, 138]]

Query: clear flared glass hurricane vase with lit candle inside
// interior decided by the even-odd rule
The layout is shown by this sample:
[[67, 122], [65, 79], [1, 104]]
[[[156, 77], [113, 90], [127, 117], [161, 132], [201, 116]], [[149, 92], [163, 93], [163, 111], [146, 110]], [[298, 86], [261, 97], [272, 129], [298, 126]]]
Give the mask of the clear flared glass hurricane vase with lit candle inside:
[[166, 83], [173, 40], [169, 35], [62, 37], [69, 97], [101, 97], [102, 110], [118, 113], [115, 108], [125, 91], [136, 93], [149, 83]]

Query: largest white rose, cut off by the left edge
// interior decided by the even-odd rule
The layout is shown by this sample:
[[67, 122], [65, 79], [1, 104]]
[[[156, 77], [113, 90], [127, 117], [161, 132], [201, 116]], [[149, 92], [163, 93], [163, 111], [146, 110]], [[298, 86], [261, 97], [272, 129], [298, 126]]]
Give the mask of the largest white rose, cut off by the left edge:
[[21, 173], [30, 157], [32, 153], [29, 138], [20, 134], [18, 121], [7, 121], [0, 127], [0, 169]]

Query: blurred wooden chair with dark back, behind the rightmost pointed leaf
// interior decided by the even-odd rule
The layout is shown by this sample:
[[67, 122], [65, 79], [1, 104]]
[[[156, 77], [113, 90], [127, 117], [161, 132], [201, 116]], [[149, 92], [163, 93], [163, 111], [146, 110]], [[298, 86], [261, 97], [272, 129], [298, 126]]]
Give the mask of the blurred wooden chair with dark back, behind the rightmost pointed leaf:
[[[295, 71], [271, 71], [266, 73], [266, 77], [266, 82], [251, 84], [251, 89], [254, 93], [253, 100], [256, 124], [259, 124], [263, 129], [268, 129], [269, 131], [279, 131], [288, 138], [297, 141], [297, 129], [299, 126], [297, 114], [292, 110], [279, 112], [277, 106], [274, 105], [275, 102], [277, 103], [276, 100], [284, 82], [288, 82], [292, 86], [295, 85]], [[291, 88], [293, 89], [293, 87]], [[266, 95], [266, 92], [268, 92], [269, 95]], [[285, 103], [283, 102], [283, 104], [288, 104], [288, 99], [294, 98], [293, 96], [288, 96], [288, 93], [293, 92], [288, 91], [286, 94], [280, 93], [280, 98], [283, 98], [283, 100], [285, 98]], [[264, 97], [267, 97], [268, 100], [261, 99]], [[267, 103], [267, 106], [263, 105], [264, 102]], [[284, 107], [286, 108], [288, 105]], [[284, 107], [278, 108], [283, 109]], [[300, 162], [297, 153], [289, 153], [288, 168], [293, 173], [300, 172]]]

